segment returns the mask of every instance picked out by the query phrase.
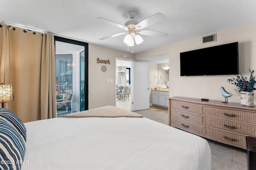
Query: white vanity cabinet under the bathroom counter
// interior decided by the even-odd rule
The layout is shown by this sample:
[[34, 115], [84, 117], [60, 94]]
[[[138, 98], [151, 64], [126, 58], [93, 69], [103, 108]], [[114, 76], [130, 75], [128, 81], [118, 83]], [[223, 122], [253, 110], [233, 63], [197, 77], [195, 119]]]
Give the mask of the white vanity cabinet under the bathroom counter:
[[161, 106], [161, 107], [168, 107], [169, 106], [169, 92], [161, 91], [161, 90], [152, 90], [152, 104]]

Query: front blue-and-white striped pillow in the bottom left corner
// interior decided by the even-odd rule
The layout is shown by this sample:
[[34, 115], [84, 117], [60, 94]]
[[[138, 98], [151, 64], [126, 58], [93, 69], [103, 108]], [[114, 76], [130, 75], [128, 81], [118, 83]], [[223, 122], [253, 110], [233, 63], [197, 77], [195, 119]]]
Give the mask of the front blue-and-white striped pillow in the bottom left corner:
[[25, 143], [21, 135], [0, 119], [0, 169], [20, 170], [25, 156]]

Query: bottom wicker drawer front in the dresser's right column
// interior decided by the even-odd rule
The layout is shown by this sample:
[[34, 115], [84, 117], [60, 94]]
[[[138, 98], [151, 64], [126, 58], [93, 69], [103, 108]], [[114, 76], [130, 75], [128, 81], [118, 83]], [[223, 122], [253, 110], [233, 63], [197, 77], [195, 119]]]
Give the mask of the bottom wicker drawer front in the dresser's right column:
[[225, 133], [222, 131], [217, 131], [214, 129], [205, 128], [205, 136], [210, 137], [212, 139], [220, 140], [226, 143], [230, 143], [230, 145], [240, 145], [242, 148], [246, 147], [245, 137], [240, 135], [234, 135], [231, 133]]

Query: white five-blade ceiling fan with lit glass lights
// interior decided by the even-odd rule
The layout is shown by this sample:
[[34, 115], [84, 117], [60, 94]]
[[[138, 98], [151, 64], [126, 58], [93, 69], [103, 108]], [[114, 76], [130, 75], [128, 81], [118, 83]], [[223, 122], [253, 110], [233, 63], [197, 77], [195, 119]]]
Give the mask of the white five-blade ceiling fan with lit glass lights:
[[117, 33], [114, 35], [109, 35], [107, 37], [103, 37], [103, 38], [101, 38], [101, 40], [127, 34], [124, 37], [124, 43], [126, 43], [128, 46], [133, 47], [134, 40], [137, 45], [142, 43], [143, 39], [140, 35], [149, 35], [149, 36], [157, 36], [157, 37], [167, 37], [169, 35], [168, 33], [163, 33], [163, 32], [159, 32], [159, 31], [144, 30], [144, 28], [146, 28], [160, 20], [163, 20], [165, 18], [165, 16], [163, 14], [161, 14], [160, 12], [158, 12], [140, 22], [133, 20], [136, 15], [137, 15], [137, 13], [135, 11], [128, 12], [128, 17], [131, 20], [124, 23], [124, 25], [122, 25], [120, 23], [116, 23], [111, 20], [108, 20], [106, 18], [98, 17], [97, 18], [98, 20], [104, 21], [108, 24], [114, 25], [116, 27], [119, 27], [119, 28], [122, 28], [125, 30], [125, 32], [122, 32], [122, 33]]

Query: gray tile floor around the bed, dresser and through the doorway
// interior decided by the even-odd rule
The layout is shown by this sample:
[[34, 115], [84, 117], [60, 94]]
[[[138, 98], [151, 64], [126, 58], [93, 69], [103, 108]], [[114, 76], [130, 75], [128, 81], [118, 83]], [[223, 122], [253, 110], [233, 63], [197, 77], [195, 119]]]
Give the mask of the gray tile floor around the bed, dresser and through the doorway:
[[[130, 111], [130, 101], [117, 100], [116, 106]], [[150, 109], [134, 111], [148, 119], [168, 125], [169, 117], [166, 113]], [[225, 145], [206, 139], [212, 151], [211, 170], [247, 170], [246, 150]]]

